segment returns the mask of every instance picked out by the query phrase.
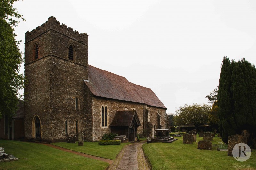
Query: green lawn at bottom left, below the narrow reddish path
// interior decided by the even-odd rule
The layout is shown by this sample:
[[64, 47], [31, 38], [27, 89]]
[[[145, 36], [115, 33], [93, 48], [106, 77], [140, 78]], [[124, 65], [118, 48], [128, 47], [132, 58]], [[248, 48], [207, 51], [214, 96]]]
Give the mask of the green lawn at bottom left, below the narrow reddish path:
[[18, 161], [1, 162], [0, 169], [98, 169], [104, 170], [108, 163], [60, 151], [41, 144], [0, 140], [5, 152]]

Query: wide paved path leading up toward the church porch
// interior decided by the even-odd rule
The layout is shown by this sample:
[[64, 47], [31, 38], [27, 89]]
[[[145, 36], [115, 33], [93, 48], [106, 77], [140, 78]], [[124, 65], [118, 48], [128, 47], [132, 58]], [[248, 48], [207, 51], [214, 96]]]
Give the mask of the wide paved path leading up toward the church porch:
[[150, 170], [150, 165], [145, 159], [142, 150], [144, 143], [145, 141], [126, 145], [108, 167], [108, 170]]

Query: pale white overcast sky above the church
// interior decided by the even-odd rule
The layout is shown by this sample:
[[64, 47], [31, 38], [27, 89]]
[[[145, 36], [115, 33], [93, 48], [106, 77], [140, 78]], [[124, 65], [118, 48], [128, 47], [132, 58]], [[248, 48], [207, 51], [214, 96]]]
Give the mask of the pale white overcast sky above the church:
[[[17, 40], [50, 16], [87, 33], [88, 63], [151, 88], [174, 113], [208, 103], [223, 56], [256, 63], [256, 1], [23, 0]], [[24, 73], [24, 66], [21, 67]]]

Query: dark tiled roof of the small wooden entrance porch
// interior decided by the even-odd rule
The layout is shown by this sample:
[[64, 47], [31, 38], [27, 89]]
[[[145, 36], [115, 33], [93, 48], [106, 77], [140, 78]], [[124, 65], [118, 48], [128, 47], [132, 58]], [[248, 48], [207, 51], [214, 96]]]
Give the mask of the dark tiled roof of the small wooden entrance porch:
[[109, 126], [131, 126], [132, 120], [134, 118], [134, 122], [141, 126], [140, 120], [135, 110], [123, 110], [116, 111], [116, 114]]

